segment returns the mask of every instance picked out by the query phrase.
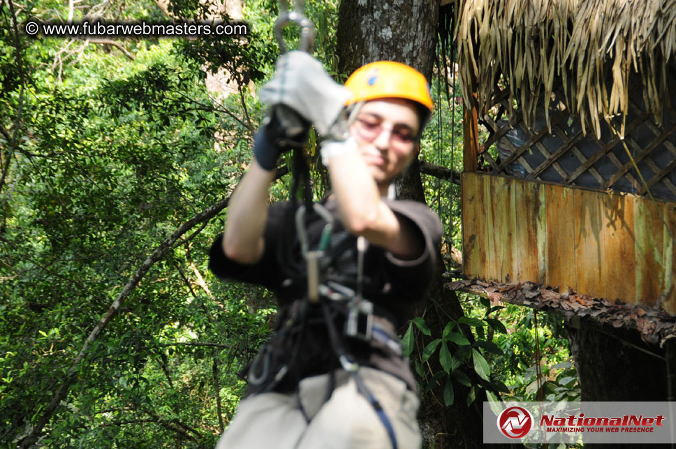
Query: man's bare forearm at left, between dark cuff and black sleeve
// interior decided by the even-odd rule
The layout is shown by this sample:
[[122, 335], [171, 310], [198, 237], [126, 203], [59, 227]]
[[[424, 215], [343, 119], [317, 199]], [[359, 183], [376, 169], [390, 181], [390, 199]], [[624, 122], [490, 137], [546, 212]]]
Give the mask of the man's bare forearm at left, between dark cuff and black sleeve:
[[230, 198], [223, 252], [235, 262], [252, 264], [263, 255], [263, 230], [273, 179], [274, 170], [264, 170], [254, 160]]

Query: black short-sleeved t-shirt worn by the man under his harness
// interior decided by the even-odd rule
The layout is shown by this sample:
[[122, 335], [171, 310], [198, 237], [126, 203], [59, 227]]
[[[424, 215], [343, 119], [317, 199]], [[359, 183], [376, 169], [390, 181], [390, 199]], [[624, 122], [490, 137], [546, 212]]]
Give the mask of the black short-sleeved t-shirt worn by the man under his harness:
[[[434, 276], [442, 229], [436, 214], [422, 203], [397, 200], [385, 202], [395, 214], [413, 224], [418, 230], [420, 241], [424, 242], [422, 253], [413, 260], [401, 260], [375, 245], [367, 246], [365, 252], [363, 297], [374, 303], [376, 315], [386, 318], [394, 328], [397, 328], [413, 317], [415, 302], [424, 295]], [[332, 249], [339, 250], [339, 254], [328, 267], [327, 276], [338, 279], [348, 288], [355, 289], [357, 237], [346, 233], [338, 218], [335, 200], [328, 200], [325, 207], [335, 216], [328, 252]], [[219, 235], [210, 251], [210, 270], [221, 279], [234, 279], [265, 286], [276, 295], [283, 311], [285, 307], [307, 293], [307, 284], [302, 281], [289, 281], [289, 267], [292, 265], [300, 267], [300, 271], [304, 268], [304, 260], [300, 256], [300, 242], [295, 238], [292, 223], [291, 205], [273, 203], [268, 209], [263, 233], [265, 249], [260, 260], [251, 265], [230, 260], [223, 253], [221, 245], [223, 237]], [[308, 214], [306, 229], [309, 249], [316, 249], [324, 226], [325, 221], [321, 217]], [[328, 344], [328, 341], [326, 343]], [[355, 349], [362, 354], [365, 353], [362, 351], [363, 348]], [[323, 348], [323, 351], [326, 352], [326, 348]], [[402, 378], [412, 390], [415, 390], [415, 382], [408, 363], [402, 358], [377, 343], [372, 343], [367, 352], [368, 358], [360, 357], [362, 364], [390, 372]], [[313, 369], [308, 374], [318, 374], [316, 371], [322, 370]]]

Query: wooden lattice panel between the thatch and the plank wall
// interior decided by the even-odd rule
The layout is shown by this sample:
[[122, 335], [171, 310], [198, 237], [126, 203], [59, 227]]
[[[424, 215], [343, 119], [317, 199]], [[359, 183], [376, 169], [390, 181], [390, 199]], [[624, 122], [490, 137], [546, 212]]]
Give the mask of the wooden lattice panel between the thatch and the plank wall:
[[488, 131], [479, 147], [480, 170], [638, 196], [647, 187], [655, 197], [676, 200], [676, 110], [666, 104], [662, 123], [656, 123], [636, 98], [641, 91], [640, 85], [632, 90], [627, 117], [602, 122], [598, 137], [588, 129], [585, 135], [557, 99], [560, 91], [550, 103], [549, 123], [541, 108], [529, 126], [518, 110], [510, 117], [508, 100], [497, 94], [490, 114], [480, 119]]

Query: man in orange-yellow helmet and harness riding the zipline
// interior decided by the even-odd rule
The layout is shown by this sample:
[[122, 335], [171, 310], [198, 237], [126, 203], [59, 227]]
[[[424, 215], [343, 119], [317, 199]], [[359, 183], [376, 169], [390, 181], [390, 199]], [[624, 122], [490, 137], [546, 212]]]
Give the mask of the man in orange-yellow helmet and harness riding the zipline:
[[434, 276], [441, 225], [427, 206], [386, 196], [418, 152], [433, 108], [427, 82], [381, 61], [342, 87], [309, 54], [291, 52], [258, 95], [324, 137], [332, 193], [300, 213], [295, 200], [268, 204], [279, 154], [307, 136], [273, 113], [210, 269], [272, 290], [279, 321], [217, 448], [419, 448], [416, 382], [395, 330]]

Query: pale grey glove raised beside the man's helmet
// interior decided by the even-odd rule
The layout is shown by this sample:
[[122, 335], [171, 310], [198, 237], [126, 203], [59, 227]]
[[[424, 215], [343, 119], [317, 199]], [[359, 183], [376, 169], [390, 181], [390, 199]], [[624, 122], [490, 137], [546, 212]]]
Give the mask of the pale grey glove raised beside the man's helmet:
[[331, 79], [321, 63], [306, 52], [289, 52], [277, 59], [272, 80], [258, 90], [268, 105], [286, 105], [326, 135], [352, 96]]

